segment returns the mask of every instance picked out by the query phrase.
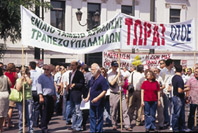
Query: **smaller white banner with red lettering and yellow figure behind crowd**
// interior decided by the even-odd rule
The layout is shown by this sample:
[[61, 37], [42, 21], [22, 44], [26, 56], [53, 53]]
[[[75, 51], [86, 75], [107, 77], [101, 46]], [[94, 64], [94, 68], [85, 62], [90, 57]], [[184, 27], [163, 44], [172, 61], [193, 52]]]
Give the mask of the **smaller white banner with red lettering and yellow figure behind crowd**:
[[[132, 65], [144, 65], [145, 68], [159, 66], [159, 61], [162, 59], [172, 58], [172, 54], [132, 54], [121, 52], [120, 53], [120, 67], [131, 67]], [[103, 52], [103, 67], [110, 68], [111, 62], [118, 61], [118, 52], [105, 51]]]

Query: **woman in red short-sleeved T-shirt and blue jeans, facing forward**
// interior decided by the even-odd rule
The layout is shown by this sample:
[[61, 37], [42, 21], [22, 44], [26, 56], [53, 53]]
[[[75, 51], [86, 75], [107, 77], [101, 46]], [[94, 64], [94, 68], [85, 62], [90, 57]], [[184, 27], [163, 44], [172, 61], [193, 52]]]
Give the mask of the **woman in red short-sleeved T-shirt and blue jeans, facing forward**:
[[147, 80], [141, 86], [141, 103], [144, 106], [146, 132], [149, 132], [156, 131], [155, 114], [157, 104], [160, 105], [160, 86], [154, 72], [147, 70], [145, 75]]

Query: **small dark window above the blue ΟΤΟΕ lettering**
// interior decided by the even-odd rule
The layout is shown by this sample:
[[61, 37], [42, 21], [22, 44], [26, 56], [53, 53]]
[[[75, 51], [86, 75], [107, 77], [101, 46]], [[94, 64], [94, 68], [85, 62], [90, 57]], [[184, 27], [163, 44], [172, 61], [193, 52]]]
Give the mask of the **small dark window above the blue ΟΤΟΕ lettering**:
[[170, 9], [170, 23], [180, 22], [180, 9]]

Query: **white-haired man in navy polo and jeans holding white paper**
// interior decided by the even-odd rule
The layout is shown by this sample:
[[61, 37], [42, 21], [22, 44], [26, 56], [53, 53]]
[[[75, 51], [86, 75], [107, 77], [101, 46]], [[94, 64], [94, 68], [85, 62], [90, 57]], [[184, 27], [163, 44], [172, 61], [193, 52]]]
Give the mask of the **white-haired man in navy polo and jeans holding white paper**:
[[90, 99], [90, 132], [103, 132], [104, 96], [109, 88], [107, 80], [101, 75], [98, 64], [91, 65], [93, 77], [90, 80], [90, 91], [85, 99]]

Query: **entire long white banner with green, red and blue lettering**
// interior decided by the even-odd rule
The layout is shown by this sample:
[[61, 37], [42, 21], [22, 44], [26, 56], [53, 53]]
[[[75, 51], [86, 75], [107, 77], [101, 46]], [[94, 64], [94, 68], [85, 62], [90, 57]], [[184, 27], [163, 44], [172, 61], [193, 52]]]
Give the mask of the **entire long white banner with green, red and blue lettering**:
[[21, 6], [22, 44], [46, 50], [85, 54], [114, 49], [195, 50], [194, 20], [156, 24], [124, 15], [84, 33], [67, 33]]

